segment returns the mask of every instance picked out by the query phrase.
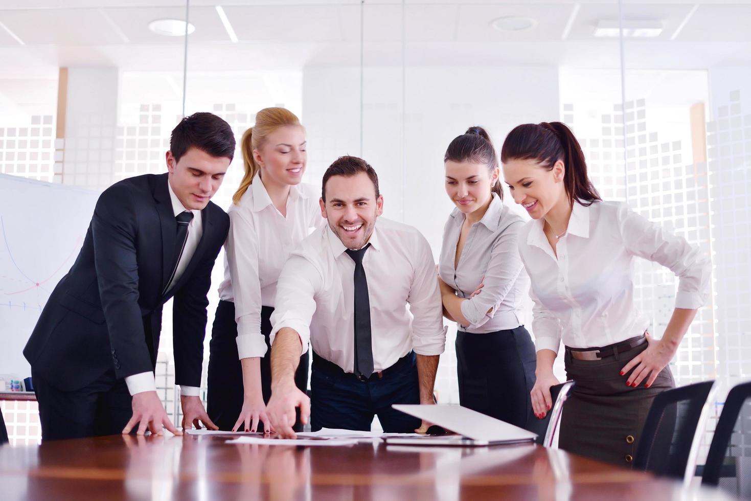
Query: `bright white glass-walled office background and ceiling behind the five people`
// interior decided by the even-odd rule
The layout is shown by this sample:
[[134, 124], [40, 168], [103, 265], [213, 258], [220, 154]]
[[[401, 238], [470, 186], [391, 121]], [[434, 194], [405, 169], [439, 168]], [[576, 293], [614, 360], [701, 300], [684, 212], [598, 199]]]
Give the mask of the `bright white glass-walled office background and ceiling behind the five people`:
[[[184, 24], [176, 36], [149, 29], [186, 17], [187, 38]], [[450, 140], [483, 125], [498, 147], [514, 125], [561, 120], [603, 198], [628, 201], [712, 257], [712, 301], [671, 365], [677, 384], [751, 376], [748, 20], [751, 2], [729, 1], [4, 0], [0, 173], [101, 192], [164, 172], [183, 113], [213, 111], [239, 139], [257, 110], [284, 106], [308, 131], [306, 182], [318, 185], [339, 155], [366, 158], [385, 216], [418, 227], [437, 258], [452, 208], [442, 162]], [[214, 198], [221, 207], [242, 171], [238, 150]], [[3, 315], [38, 315], [19, 304], [46, 298], [33, 284], [23, 294], [8, 285], [24, 282], [8, 257], [38, 252], [28, 245], [0, 242], [0, 337], [19, 335]], [[44, 267], [60, 268], [54, 280], [76, 251], [40, 253]], [[647, 262], [637, 271], [637, 298], [659, 337], [677, 281]], [[173, 413], [170, 315], [165, 308], [158, 386]], [[436, 381], [443, 403], [458, 403], [455, 332]], [[210, 327], [207, 357], [209, 339]], [[20, 358], [3, 352], [0, 373]]]

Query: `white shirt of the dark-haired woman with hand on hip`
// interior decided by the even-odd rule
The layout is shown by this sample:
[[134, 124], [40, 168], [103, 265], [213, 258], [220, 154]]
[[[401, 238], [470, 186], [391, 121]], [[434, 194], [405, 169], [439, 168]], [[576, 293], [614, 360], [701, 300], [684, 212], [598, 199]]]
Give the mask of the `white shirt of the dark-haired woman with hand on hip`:
[[635, 213], [623, 202], [574, 203], [569, 228], [556, 255], [543, 219], [526, 223], [519, 250], [535, 305], [532, 330], [537, 351], [620, 343], [644, 332], [649, 322], [634, 303], [634, 257], [655, 261], [678, 276], [677, 308], [707, 302], [712, 267], [683, 237]]

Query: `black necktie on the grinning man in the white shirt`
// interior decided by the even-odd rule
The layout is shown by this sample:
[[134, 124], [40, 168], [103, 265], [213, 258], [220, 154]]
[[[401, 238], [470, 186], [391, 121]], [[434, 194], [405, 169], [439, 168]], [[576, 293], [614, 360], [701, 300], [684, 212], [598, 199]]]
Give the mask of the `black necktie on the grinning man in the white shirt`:
[[345, 252], [354, 261], [354, 374], [370, 377], [373, 373], [373, 351], [370, 339], [370, 299], [363, 256], [370, 244]]

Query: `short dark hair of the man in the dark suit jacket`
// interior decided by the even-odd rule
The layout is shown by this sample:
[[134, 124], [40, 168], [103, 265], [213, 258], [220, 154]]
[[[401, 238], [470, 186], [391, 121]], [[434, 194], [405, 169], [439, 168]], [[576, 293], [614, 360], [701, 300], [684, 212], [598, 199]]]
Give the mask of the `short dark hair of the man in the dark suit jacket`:
[[230, 125], [213, 113], [205, 111], [183, 117], [172, 129], [170, 151], [179, 161], [191, 148], [198, 148], [213, 157], [234, 157], [234, 133]]

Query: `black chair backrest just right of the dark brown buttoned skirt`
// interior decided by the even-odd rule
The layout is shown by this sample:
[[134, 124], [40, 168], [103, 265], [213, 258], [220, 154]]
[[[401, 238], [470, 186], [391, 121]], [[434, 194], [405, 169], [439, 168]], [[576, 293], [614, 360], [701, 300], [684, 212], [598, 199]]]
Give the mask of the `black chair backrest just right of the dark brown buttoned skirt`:
[[[663, 391], [655, 397], [641, 432], [634, 469], [686, 478], [704, 404], [713, 386], [713, 381], [701, 382]], [[693, 466], [691, 469], [693, 476]]]

